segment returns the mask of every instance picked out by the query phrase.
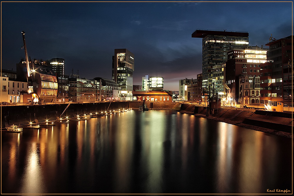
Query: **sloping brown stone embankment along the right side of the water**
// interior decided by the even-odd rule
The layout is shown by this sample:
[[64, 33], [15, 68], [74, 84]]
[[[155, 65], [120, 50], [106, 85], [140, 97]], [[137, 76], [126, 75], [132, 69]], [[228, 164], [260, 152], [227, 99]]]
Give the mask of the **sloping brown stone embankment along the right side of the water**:
[[258, 130], [265, 133], [292, 137], [292, 114], [270, 112], [263, 110], [245, 111], [242, 109], [223, 109], [214, 111], [213, 115], [206, 116], [206, 108], [192, 104], [177, 103], [172, 109], [181, 113], [191, 114], [220, 122], [238, 125], [244, 128]]

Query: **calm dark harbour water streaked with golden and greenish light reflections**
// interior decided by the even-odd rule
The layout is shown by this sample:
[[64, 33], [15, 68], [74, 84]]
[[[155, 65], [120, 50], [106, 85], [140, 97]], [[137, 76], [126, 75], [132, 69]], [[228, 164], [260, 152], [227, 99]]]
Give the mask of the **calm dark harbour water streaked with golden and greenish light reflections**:
[[1, 135], [2, 193], [267, 193], [292, 187], [290, 138], [169, 110]]

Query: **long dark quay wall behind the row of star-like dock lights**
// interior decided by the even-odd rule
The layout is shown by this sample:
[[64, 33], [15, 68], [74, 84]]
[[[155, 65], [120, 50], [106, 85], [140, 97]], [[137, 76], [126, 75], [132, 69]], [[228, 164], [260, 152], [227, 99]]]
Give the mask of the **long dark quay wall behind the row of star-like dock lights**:
[[[56, 120], [68, 104], [48, 104], [48, 105], [16, 105], [1, 107], [1, 128], [5, 125], [26, 125], [29, 122], [38, 120], [44, 122]], [[129, 102], [98, 102], [98, 103], [71, 103], [62, 117], [75, 117], [77, 114], [89, 114], [105, 110], [116, 110], [129, 108]]]

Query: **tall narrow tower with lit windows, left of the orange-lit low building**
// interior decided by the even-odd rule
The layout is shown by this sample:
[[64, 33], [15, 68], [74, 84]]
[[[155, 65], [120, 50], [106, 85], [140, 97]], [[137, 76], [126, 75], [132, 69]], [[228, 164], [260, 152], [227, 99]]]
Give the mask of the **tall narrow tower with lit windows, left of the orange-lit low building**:
[[127, 49], [114, 49], [112, 80], [121, 88], [121, 99], [132, 100], [134, 55]]

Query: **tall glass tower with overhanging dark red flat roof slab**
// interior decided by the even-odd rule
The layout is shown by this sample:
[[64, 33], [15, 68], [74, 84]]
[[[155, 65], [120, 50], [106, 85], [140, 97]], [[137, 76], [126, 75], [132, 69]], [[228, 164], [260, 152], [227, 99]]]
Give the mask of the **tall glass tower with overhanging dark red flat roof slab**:
[[212, 70], [221, 68], [227, 60], [228, 50], [248, 46], [248, 36], [244, 31], [210, 29], [197, 29], [192, 33], [192, 38], [202, 38], [202, 88], [212, 87]]

